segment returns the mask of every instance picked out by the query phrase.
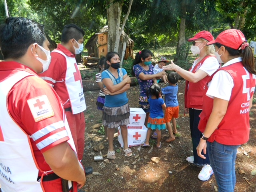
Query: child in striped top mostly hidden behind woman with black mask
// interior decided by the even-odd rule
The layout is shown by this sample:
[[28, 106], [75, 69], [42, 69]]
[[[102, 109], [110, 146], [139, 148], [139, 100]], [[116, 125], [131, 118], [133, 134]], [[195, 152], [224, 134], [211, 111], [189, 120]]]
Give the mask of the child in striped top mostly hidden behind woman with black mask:
[[[105, 94], [103, 91], [103, 83], [101, 81], [101, 73], [104, 70], [104, 61], [105, 61], [105, 57], [100, 58], [99, 62], [98, 62], [98, 67], [99, 67], [99, 73], [96, 74], [96, 83], [98, 84], [98, 86], [100, 87], [100, 93], [99, 96], [97, 98], [96, 101], [96, 105], [97, 105], [97, 109], [102, 111], [102, 114], [104, 112], [103, 107], [104, 107], [104, 103], [105, 103]], [[108, 127], [104, 126], [104, 130], [105, 130], [105, 136], [106, 136], [106, 140], [108, 140]]]

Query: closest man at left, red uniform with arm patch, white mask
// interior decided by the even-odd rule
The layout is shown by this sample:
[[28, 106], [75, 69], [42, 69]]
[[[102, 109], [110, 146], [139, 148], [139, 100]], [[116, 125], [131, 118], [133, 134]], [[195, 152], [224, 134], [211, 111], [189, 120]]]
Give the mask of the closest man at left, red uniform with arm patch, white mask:
[[[2, 192], [76, 192], [86, 182], [62, 102], [37, 75], [50, 63], [43, 29], [22, 17], [6, 18], [0, 26]], [[64, 180], [73, 182], [62, 188]]]

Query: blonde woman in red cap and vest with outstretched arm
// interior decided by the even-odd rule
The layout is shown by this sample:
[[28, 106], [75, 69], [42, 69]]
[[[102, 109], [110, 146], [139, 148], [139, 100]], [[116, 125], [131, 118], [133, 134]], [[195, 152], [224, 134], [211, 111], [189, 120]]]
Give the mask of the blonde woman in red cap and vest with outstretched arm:
[[192, 67], [187, 71], [180, 66], [171, 64], [163, 67], [165, 70], [174, 70], [186, 80], [185, 90], [185, 108], [189, 109], [190, 131], [193, 145], [193, 156], [186, 158], [190, 163], [203, 166], [198, 174], [198, 179], [206, 181], [213, 174], [210, 166], [208, 154], [206, 159], [202, 159], [197, 155], [196, 147], [200, 142], [200, 130], [198, 130], [199, 114], [203, 107], [203, 89], [208, 78], [220, 67], [216, 56], [214, 55], [214, 46], [206, 46], [210, 41], [214, 40], [212, 34], [208, 31], [198, 32], [193, 38], [188, 39], [193, 42], [190, 50], [193, 55], [198, 54]]

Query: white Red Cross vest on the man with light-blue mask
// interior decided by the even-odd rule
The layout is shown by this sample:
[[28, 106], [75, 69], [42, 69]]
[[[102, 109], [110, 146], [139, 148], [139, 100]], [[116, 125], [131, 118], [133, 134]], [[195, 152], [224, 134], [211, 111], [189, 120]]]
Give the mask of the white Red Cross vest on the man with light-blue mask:
[[68, 90], [72, 114], [83, 112], [86, 110], [86, 104], [82, 86], [82, 78], [76, 63], [76, 59], [73, 57], [68, 57], [66, 54], [56, 49], [52, 52], [62, 54], [66, 58], [67, 71], [65, 85]]

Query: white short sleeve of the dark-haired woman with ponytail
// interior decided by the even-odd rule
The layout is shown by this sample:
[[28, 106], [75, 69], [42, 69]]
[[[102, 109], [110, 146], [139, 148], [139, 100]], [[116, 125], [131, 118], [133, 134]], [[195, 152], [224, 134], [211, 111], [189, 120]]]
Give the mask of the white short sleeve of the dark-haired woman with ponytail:
[[216, 97], [227, 101], [230, 100], [234, 81], [228, 72], [219, 70], [214, 74], [208, 85], [209, 88], [206, 92], [206, 96], [210, 98]]

